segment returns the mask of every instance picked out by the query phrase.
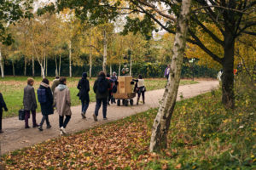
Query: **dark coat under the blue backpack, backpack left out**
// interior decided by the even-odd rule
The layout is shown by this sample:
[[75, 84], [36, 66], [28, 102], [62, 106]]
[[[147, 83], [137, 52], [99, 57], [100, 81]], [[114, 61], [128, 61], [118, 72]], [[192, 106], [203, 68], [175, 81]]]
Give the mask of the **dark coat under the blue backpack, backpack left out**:
[[46, 115], [53, 114], [53, 112], [54, 112], [54, 110], [53, 110], [53, 95], [51, 93], [51, 89], [42, 83], [39, 88], [45, 89], [45, 93], [46, 93], [46, 102], [40, 103], [42, 115], [46, 116]]

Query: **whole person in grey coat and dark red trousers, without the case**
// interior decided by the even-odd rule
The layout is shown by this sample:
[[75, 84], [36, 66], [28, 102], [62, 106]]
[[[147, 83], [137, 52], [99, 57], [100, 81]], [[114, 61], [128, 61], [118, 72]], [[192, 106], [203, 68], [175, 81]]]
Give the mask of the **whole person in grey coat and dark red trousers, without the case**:
[[38, 105], [33, 85], [34, 80], [32, 78], [27, 78], [27, 86], [24, 88], [23, 96], [23, 106], [25, 110], [25, 128], [29, 128], [28, 119], [30, 117], [30, 111], [32, 112], [33, 127], [38, 127], [38, 123], [36, 121], [36, 109]]

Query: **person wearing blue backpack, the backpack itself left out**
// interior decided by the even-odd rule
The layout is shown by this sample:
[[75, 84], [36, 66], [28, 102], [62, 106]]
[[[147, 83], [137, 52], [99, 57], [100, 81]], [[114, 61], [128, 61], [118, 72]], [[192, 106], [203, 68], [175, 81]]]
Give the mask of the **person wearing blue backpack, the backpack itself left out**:
[[40, 83], [39, 88], [45, 89], [45, 95], [46, 95], [46, 102], [40, 103], [43, 118], [42, 118], [42, 121], [41, 121], [38, 129], [40, 131], [43, 131], [44, 121], [46, 121], [47, 128], [51, 127], [49, 124], [49, 115], [54, 113], [53, 95], [52, 95], [51, 89], [49, 88], [49, 80], [47, 78], [43, 79], [43, 81]]

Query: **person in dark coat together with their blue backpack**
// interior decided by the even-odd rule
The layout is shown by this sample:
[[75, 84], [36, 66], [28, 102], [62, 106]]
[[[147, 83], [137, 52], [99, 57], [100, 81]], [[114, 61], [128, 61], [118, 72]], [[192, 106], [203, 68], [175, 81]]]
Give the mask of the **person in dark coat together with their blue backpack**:
[[49, 115], [54, 113], [53, 94], [49, 88], [49, 80], [47, 78], [43, 79], [43, 81], [40, 83], [40, 87], [38, 88], [38, 102], [41, 105], [41, 111], [43, 115], [38, 129], [43, 131], [44, 121], [46, 121], [47, 128], [51, 127], [49, 124]]

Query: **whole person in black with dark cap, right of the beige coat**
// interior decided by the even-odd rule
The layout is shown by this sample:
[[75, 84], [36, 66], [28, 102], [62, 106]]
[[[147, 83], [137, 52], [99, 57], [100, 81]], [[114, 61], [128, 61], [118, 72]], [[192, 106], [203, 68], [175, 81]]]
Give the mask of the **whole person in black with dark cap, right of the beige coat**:
[[79, 89], [79, 99], [81, 100], [81, 103], [82, 103], [81, 115], [85, 119], [86, 118], [85, 113], [90, 103], [90, 97], [89, 97], [90, 83], [87, 80], [86, 72], [83, 73], [81, 80], [79, 80], [78, 89]]

